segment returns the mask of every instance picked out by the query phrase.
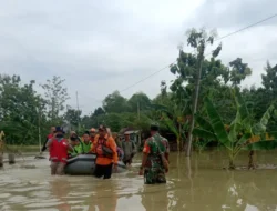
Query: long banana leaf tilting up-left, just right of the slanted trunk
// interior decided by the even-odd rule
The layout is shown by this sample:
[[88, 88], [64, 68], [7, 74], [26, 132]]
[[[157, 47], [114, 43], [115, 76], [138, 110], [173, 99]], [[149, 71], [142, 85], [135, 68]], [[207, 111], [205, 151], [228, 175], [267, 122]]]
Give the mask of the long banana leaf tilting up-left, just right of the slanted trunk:
[[205, 108], [211, 120], [211, 125], [213, 127], [213, 131], [217, 137], [217, 140], [223, 143], [226, 148], [230, 148], [230, 141], [228, 139], [228, 134], [225, 130], [224, 123], [222, 121], [220, 115], [217, 113], [216, 108], [212, 103], [212, 101], [206, 98], [205, 99]]

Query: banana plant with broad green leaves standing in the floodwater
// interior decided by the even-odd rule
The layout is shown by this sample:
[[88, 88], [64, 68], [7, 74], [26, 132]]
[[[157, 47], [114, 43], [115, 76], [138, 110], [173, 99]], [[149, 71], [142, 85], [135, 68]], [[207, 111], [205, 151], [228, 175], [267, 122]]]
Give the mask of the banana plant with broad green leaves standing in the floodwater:
[[[232, 92], [236, 102], [237, 112], [236, 118], [229, 125], [229, 131], [226, 131], [219, 113], [212, 101], [206, 98], [205, 110], [207, 120], [201, 117], [196, 119], [198, 128], [195, 128], [194, 134], [203, 139], [216, 140], [223, 144], [228, 151], [229, 169], [235, 169], [235, 158], [242, 150], [250, 150], [252, 155], [253, 150], [275, 148], [277, 132], [266, 133], [267, 123], [274, 111], [274, 105], [267, 109], [259, 122], [254, 123], [239, 90], [235, 89], [232, 90]], [[270, 137], [270, 142], [266, 139], [266, 135]], [[254, 137], [259, 137], [258, 141], [253, 141], [252, 138]]]

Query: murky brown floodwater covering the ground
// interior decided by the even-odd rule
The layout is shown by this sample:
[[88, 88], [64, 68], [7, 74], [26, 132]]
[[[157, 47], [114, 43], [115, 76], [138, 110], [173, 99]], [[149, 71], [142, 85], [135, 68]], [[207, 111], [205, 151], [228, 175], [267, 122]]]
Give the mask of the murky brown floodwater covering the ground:
[[[258, 152], [257, 161], [277, 164], [276, 152]], [[0, 211], [277, 211], [277, 170], [227, 171], [224, 152], [171, 154], [167, 184], [144, 185], [140, 155], [130, 171], [111, 180], [50, 177], [47, 159], [18, 158], [0, 170]], [[240, 154], [237, 164], [247, 164]], [[35, 165], [35, 169], [22, 168]]]

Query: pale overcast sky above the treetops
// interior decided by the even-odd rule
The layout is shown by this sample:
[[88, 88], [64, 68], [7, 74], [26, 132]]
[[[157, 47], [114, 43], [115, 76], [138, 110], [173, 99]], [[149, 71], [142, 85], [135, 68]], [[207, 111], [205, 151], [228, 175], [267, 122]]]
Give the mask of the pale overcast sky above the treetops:
[[[24, 82], [65, 79], [75, 107], [93, 111], [123, 90], [174, 62], [191, 27], [225, 36], [277, 13], [276, 0], [0, 0], [0, 73]], [[253, 68], [244, 86], [260, 86], [266, 60], [277, 63], [277, 18], [223, 41], [227, 64], [242, 57]], [[122, 94], [160, 92], [163, 70]], [[39, 90], [39, 89], [38, 89]], [[41, 92], [41, 90], [39, 90]]]

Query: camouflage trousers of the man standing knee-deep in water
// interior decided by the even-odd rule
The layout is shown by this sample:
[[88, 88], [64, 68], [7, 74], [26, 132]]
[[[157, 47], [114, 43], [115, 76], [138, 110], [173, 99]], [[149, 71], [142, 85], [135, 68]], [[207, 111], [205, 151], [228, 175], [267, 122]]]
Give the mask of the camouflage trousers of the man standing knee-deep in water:
[[165, 172], [162, 168], [147, 168], [144, 170], [144, 184], [166, 183]]

